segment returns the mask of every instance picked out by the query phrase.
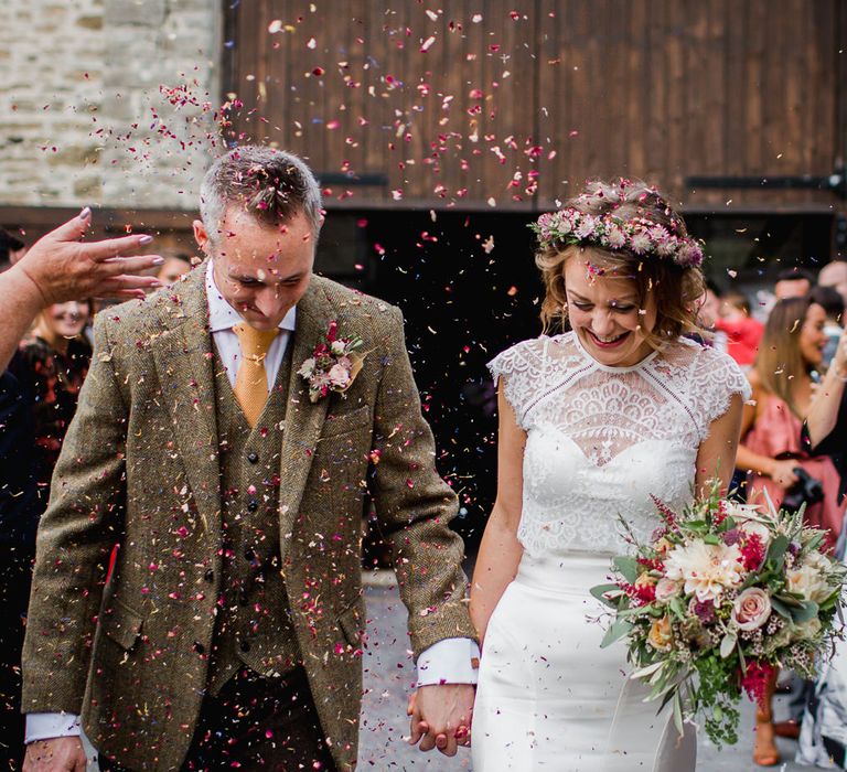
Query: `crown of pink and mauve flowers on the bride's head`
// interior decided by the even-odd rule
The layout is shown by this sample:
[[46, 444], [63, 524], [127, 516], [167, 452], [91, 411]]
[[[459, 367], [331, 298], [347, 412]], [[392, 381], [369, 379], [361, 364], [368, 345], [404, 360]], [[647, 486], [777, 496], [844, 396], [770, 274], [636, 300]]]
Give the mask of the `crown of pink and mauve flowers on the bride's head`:
[[675, 236], [664, 225], [646, 217], [622, 219], [614, 214], [601, 216], [586, 214], [573, 206], [548, 212], [530, 223], [543, 248], [554, 244], [593, 245], [637, 257], [671, 258], [683, 268], [697, 267], [703, 262], [703, 242]]

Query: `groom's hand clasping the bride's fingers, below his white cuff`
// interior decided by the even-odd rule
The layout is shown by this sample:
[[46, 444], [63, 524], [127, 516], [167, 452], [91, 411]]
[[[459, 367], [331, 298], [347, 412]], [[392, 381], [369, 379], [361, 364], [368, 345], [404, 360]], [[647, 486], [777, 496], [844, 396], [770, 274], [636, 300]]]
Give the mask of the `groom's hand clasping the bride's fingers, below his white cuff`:
[[420, 750], [438, 748], [444, 755], [455, 755], [458, 746], [470, 744], [473, 695], [470, 684], [421, 686], [409, 700], [409, 744], [420, 742]]

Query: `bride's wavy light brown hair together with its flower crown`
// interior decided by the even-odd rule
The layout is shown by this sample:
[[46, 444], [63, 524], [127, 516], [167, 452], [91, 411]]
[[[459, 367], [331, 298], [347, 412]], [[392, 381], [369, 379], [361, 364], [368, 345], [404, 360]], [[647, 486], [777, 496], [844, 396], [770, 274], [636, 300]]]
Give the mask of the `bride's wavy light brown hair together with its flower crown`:
[[562, 210], [542, 215], [530, 227], [538, 235], [535, 262], [546, 289], [545, 333], [568, 329], [564, 270], [571, 258], [585, 261], [587, 270], [633, 279], [642, 309], [653, 297], [656, 323], [644, 331], [653, 349], [698, 329], [697, 303], [706, 291], [703, 246], [655, 187], [593, 180]]

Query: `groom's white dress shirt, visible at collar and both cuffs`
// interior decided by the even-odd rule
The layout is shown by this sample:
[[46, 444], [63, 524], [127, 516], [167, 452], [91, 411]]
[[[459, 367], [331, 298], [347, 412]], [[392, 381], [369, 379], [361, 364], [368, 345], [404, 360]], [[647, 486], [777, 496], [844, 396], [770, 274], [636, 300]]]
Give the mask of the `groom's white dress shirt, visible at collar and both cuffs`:
[[[240, 314], [224, 299], [215, 285], [212, 261], [206, 267], [206, 298], [208, 299], [208, 326], [221, 361], [226, 368], [229, 384], [235, 386], [242, 349], [233, 326], [243, 322]], [[274, 388], [279, 366], [286, 355], [291, 333], [297, 321], [293, 307], [279, 323], [280, 333], [274, 339], [265, 357], [268, 376], [268, 392]], [[299, 363], [293, 363], [298, 367]], [[416, 686], [432, 684], [475, 684], [480, 647], [467, 637], [451, 637], [429, 646], [418, 657], [418, 680]], [[87, 739], [79, 726], [79, 717], [72, 714], [26, 714], [25, 742], [47, 740], [53, 737], [82, 736], [86, 748]]]

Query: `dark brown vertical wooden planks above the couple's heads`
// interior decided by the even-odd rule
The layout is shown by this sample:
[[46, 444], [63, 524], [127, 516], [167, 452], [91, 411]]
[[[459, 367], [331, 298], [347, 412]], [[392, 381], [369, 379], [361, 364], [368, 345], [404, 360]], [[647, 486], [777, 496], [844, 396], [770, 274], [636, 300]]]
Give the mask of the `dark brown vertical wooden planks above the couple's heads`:
[[276, 142], [334, 205], [549, 207], [589, 176], [691, 208], [822, 208], [689, 175], [824, 175], [844, 159], [846, 0], [226, 3], [232, 138]]

